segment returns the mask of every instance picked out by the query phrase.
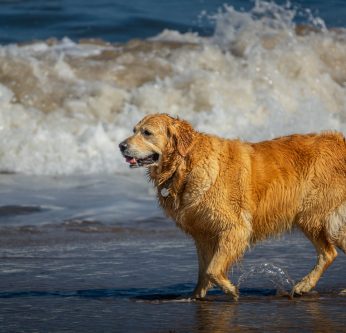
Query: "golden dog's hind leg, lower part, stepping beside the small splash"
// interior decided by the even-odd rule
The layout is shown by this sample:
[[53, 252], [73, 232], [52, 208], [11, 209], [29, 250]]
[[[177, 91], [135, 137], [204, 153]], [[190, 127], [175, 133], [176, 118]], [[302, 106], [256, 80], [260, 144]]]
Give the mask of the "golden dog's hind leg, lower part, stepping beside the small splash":
[[314, 238], [308, 233], [305, 234], [315, 246], [317, 252], [317, 263], [313, 270], [293, 287], [293, 293], [298, 295], [309, 292], [314, 288], [322, 274], [332, 264], [337, 256], [334, 245], [327, 240], [324, 231], [320, 232], [317, 238]]

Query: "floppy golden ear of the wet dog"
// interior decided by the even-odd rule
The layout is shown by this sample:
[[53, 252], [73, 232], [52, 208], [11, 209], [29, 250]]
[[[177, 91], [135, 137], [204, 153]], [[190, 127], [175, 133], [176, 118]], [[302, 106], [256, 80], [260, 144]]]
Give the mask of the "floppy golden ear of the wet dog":
[[195, 136], [192, 126], [185, 120], [174, 119], [174, 122], [168, 126], [167, 132], [179, 154], [185, 157]]

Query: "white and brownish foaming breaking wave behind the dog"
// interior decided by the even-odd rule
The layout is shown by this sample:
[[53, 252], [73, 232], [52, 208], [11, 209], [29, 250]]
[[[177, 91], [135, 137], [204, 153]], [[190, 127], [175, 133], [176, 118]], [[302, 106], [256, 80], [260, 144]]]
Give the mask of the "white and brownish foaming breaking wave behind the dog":
[[320, 30], [297, 34], [295, 14], [257, 1], [220, 10], [211, 37], [165, 30], [124, 45], [0, 47], [0, 170], [124, 171], [118, 143], [156, 112], [254, 141], [346, 133], [346, 33], [310, 17]]

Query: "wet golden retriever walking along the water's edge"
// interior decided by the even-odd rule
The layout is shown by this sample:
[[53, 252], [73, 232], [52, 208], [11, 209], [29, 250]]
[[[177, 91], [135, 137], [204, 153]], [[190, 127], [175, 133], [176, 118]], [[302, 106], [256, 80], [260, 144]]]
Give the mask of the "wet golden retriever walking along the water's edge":
[[238, 299], [228, 271], [252, 244], [298, 227], [317, 264], [293, 287], [313, 289], [346, 252], [346, 143], [342, 134], [289, 135], [258, 143], [200, 133], [167, 114], [144, 117], [119, 145], [146, 167], [160, 205], [195, 242], [194, 299], [219, 286]]

